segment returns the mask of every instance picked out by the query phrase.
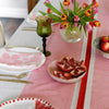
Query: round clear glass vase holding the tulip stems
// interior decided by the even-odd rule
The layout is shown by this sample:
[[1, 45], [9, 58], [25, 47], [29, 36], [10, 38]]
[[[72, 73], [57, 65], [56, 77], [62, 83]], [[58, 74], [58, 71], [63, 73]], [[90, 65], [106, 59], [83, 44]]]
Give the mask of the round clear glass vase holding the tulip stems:
[[72, 25], [72, 26], [70, 26], [68, 28], [60, 29], [60, 33], [61, 33], [62, 38], [66, 43], [77, 43], [83, 37], [83, 31], [82, 31], [82, 28], [80, 28], [80, 26], [74, 27]]

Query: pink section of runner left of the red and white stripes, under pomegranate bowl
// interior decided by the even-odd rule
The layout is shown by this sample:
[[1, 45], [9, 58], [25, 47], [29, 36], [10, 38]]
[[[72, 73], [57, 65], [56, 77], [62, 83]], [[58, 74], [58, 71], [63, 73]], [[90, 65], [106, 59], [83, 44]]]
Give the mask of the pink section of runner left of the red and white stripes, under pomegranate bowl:
[[28, 81], [32, 81], [34, 84], [26, 85], [21, 97], [39, 97], [51, 102], [56, 109], [70, 109], [75, 84], [62, 84], [53, 81], [49, 76], [47, 68], [51, 61], [64, 56], [80, 60], [83, 40], [76, 44], [65, 43], [59, 33], [59, 25], [53, 26], [53, 32], [47, 45], [51, 56], [47, 58], [41, 68], [32, 72]]

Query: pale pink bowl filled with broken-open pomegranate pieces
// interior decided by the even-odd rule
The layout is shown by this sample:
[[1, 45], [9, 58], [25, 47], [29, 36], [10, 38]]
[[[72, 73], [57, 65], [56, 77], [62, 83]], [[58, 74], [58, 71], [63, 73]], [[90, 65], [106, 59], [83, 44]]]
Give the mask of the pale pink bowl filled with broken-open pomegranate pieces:
[[75, 83], [86, 73], [84, 61], [77, 61], [72, 57], [62, 57], [48, 65], [49, 75], [61, 83]]

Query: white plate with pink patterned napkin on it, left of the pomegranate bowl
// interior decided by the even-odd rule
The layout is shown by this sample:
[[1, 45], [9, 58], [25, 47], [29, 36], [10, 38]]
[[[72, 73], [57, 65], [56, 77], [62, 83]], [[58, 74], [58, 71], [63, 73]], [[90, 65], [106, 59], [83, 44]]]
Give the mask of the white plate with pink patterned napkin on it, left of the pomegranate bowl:
[[0, 70], [27, 72], [41, 66], [46, 61], [43, 52], [33, 48], [15, 47], [0, 49]]

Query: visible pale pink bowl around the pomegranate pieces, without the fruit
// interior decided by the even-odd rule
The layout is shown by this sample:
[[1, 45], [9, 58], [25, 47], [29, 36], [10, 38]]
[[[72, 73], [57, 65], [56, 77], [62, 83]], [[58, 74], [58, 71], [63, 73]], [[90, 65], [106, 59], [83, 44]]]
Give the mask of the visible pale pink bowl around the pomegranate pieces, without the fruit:
[[48, 65], [48, 73], [49, 75], [55, 80], [55, 81], [58, 81], [60, 83], [75, 83], [80, 80], [82, 80], [82, 77], [84, 77], [84, 75], [86, 74], [83, 73], [82, 75], [80, 75], [78, 77], [74, 77], [74, 78], [70, 78], [70, 80], [63, 80], [63, 78], [60, 78], [60, 77], [57, 77], [53, 75], [53, 71], [58, 71], [58, 68], [57, 68], [57, 60], [52, 61], [49, 65]]

